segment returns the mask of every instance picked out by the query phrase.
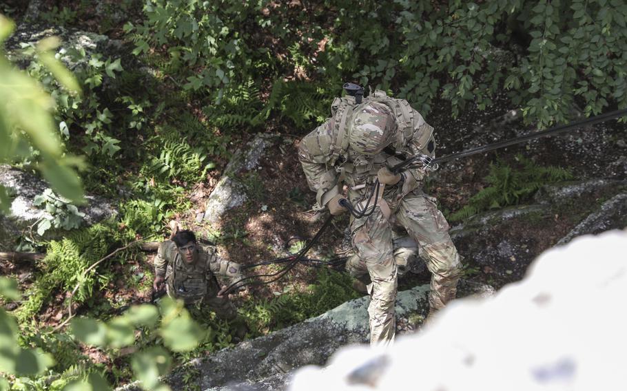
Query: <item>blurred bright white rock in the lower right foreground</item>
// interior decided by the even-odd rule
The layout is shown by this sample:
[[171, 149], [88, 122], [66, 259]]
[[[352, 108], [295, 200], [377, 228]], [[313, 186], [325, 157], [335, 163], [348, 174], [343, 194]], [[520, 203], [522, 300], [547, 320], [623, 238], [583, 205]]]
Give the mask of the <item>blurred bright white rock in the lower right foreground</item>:
[[540, 255], [522, 282], [461, 299], [389, 350], [349, 347], [289, 390], [627, 390], [627, 231]]

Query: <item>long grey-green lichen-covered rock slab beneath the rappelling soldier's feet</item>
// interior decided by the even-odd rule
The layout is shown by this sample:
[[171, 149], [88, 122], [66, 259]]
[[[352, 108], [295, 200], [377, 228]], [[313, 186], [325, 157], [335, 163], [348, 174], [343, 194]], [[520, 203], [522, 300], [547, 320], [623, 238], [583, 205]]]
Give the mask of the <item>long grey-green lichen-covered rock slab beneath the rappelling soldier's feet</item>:
[[[487, 297], [493, 288], [462, 282], [460, 295]], [[423, 285], [398, 294], [397, 330], [411, 331], [410, 317], [425, 315], [429, 310], [429, 286]], [[245, 341], [209, 357], [194, 359], [177, 370], [167, 383], [182, 390], [194, 383], [201, 390], [283, 390], [294, 368], [322, 365], [338, 350], [349, 344], [367, 344], [369, 297], [346, 302], [333, 310], [300, 324], [278, 330], [264, 337]], [[197, 373], [196, 379], [183, 382], [185, 374]], [[189, 377], [189, 375], [188, 375]], [[121, 390], [138, 390], [130, 385]]]

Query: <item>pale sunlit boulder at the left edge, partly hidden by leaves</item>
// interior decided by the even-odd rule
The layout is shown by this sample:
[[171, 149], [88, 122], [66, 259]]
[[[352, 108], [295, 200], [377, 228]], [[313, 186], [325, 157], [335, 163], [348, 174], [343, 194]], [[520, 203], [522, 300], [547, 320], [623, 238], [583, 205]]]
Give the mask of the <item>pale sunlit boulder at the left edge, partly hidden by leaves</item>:
[[[34, 176], [8, 165], [0, 165], [0, 182], [14, 194], [11, 203], [10, 215], [0, 215], [0, 251], [14, 251], [19, 237], [25, 231], [31, 231], [29, 226], [41, 218], [50, 217], [50, 213], [39, 209], [34, 205], [36, 195], [43, 193], [48, 184]], [[115, 207], [101, 197], [87, 195], [88, 204], [79, 207], [79, 211], [85, 213], [83, 224], [94, 224], [117, 214]], [[51, 239], [60, 235], [63, 231], [49, 230], [43, 239]], [[37, 228], [32, 229], [32, 234], [37, 238]]]

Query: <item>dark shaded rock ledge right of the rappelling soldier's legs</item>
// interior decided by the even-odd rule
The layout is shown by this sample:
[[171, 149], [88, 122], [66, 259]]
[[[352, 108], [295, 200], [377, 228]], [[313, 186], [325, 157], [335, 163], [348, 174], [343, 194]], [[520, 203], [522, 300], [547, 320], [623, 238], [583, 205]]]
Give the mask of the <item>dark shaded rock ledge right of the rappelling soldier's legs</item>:
[[476, 215], [451, 229], [464, 265], [495, 287], [522, 279], [531, 261], [578, 235], [627, 226], [627, 181], [588, 180], [544, 187], [534, 204]]

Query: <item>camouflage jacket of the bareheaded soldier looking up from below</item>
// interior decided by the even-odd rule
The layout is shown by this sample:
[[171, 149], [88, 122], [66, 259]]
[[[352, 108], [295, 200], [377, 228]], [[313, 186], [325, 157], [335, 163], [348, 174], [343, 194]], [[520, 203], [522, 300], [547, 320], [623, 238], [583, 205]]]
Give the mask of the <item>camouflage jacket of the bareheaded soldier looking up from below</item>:
[[[165, 277], [168, 292], [181, 297], [186, 302], [194, 302], [216, 291], [218, 282], [214, 277], [224, 279], [227, 286], [242, 279], [240, 265], [223, 260], [214, 246], [198, 244], [198, 258], [193, 264], [186, 264], [172, 240], [159, 245], [154, 259], [155, 275]], [[219, 286], [217, 286], [219, 288]]]

